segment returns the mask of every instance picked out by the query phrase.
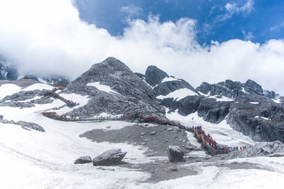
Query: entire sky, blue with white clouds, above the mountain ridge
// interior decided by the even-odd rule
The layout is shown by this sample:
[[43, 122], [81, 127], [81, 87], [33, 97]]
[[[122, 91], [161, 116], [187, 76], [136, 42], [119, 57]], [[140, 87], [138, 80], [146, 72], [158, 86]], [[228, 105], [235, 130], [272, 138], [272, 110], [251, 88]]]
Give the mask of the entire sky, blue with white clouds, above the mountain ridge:
[[284, 1], [0, 0], [0, 55], [71, 80], [113, 56], [193, 87], [256, 80], [284, 95]]

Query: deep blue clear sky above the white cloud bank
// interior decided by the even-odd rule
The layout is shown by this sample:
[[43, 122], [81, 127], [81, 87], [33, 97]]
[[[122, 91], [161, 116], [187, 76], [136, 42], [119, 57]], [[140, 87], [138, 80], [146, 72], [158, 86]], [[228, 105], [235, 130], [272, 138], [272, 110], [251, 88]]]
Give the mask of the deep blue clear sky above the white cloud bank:
[[118, 36], [129, 19], [158, 15], [160, 22], [193, 18], [197, 21], [197, 41], [229, 39], [265, 43], [284, 38], [284, 1], [282, 0], [80, 0], [80, 18]]

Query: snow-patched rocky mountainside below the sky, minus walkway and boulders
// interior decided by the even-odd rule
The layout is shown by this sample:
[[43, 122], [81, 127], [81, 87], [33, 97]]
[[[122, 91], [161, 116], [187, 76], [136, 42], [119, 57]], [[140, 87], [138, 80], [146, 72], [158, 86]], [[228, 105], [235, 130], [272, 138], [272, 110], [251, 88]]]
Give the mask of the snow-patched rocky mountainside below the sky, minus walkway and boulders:
[[[271, 132], [276, 137], [273, 129], [281, 128], [281, 98], [273, 92], [267, 95], [251, 80], [244, 84], [230, 80], [203, 83], [194, 89], [153, 66], [145, 75], [138, 75], [119, 60], [107, 58], [65, 90], [55, 91], [53, 86], [31, 79], [0, 82], [0, 188], [284, 185], [284, 144], [252, 140], [258, 140], [258, 136], [265, 139], [264, 134]], [[76, 105], [67, 106], [71, 101]], [[43, 116], [46, 112], [76, 120], [50, 119]], [[201, 125], [220, 146], [246, 148], [209, 156], [194, 134], [176, 126], [126, 120], [84, 121], [135, 112], [167, 117], [185, 126]], [[251, 136], [234, 128], [241, 125], [252, 132], [250, 126], [256, 120], [260, 120], [261, 129]], [[271, 130], [266, 131], [266, 126]], [[169, 162], [170, 145], [180, 146], [185, 161]], [[119, 165], [74, 164], [80, 156], [95, 157], [114, 148], [127, 152]]]

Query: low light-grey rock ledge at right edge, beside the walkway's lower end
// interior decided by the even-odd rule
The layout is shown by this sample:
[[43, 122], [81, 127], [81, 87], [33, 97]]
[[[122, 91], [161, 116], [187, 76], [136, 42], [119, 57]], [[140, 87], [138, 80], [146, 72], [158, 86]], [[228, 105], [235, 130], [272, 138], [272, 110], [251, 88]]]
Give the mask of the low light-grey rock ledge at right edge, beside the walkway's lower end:
[[[226, 155], [225, 159], [233, 159], [233, 158], [248, 158], [251, 156], [271, 156], [277, 153], [284, 153], [284, 144], [280, 141], [274, 142], [261, 142], [256, 144], [255, 146], [249, 146], [240, 151], [233, 151]], [[277, 155], [276, 155], [277, 156]]]

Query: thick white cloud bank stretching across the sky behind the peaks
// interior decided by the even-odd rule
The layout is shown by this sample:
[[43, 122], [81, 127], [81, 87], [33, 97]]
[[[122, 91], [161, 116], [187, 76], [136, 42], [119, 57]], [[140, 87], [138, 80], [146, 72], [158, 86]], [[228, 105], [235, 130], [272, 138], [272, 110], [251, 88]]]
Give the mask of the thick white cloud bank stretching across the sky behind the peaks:
[[135, 72], [157, 65], [194, 87], [202, 81], [256, 80], [284, 94], [284, 41], [261, 45], [230, 40], [200, 46], [195, 20], [134, 20], [119, 37], [80, 21], [68, 0], [0, 1], [0, 54], [22, 72], [57, 73], [75, 79], [92, 64], [114, 56]]

